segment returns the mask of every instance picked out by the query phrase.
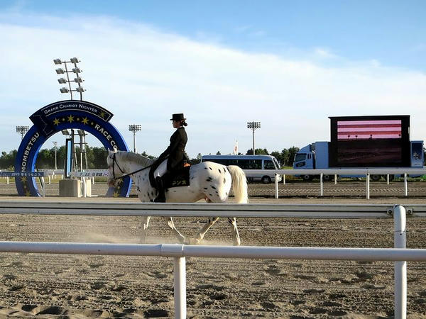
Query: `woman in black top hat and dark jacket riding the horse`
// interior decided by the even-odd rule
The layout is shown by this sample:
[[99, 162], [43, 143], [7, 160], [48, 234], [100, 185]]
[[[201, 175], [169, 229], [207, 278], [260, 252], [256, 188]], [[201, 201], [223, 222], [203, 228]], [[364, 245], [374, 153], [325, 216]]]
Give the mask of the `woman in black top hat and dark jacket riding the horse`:
[[158, 196], [154, 200], [155, 202], [165, 203], [165, 189], [163, 184], [164, 174], [182, 169], [184, 161], [189, 161], [185, 152], [185, 145], [188, 140], [187, 133], [184, 128], [184, 126], [187, 126], [185, 120], [186, 118], [183, 116], [183, 113], [175, 113], [172, 118], [170, 118], [173, 128], [176, 128], [175, 133], [173, 133], [170, 137], [170, 145], [163, 153], [161, 153], [153, 164], [154, 167], [157, 167], [153, 174], [155, 178], [155, 186], [158, 191]]

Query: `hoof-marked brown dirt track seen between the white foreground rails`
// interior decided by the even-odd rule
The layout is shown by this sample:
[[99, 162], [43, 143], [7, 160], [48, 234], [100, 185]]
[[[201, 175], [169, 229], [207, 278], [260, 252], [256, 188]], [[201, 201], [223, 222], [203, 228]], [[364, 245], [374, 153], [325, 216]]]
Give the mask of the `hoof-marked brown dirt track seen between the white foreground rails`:
[[[0, 200], [5, 199], [18, 198], [0, 196]], [[362, 198], [278, 201], [367, 203]], [[277, 201], [252, 198], [251, 202]], [[422, 198], [369, 201], [397, 202], [426, 203]], [[187, 237], [195, 237], [203, 222], [175, 218], [178, 229]], [[393, 247], [392, 219], [240, 218], [238, 226], [243, 245]], [[426, 248], [425, 221], [409, 218], [407, 228], [408, 247]], [[0, 229], [0, 240], [136, 243], [141, 223], [136, 217], [4, 215]], [[148, 232], [151, 243], [175, 241], [162, 218], [153, 218]], [[228, 222], [219, 220], [204, 244], [231, 242]], [[425, 271], [425, 263], [408, 263], [408, 318], [426, 318]], [[0, 317], [174, 315], [173, 260], [168, 258], [1, 253], [0, 278]], [[391, 318], [393, 263], [187, 258], [187, 313], [188, 318]]]

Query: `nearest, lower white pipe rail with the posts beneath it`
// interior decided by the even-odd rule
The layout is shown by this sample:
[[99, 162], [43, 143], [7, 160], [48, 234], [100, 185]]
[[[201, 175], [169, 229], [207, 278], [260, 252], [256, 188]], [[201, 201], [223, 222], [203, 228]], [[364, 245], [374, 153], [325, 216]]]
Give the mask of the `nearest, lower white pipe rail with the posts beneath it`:
[[[1, 252], [161, 256], [174, 259], [175, 318], [186, 318], [185, 257], [395, 261], [395, 318], [405, 318], [406, 272], [396, 276], [396, 263], [426, 261], [426, 250], [336, 247], [231, 247], [180, 244], [96, 244], [81, 242], [0, 242]], [[405, 289], [403, 289], [405, 287]], [[399, 292], [399, 293], [398, 293]], [[399, 307], [399, 308], [398, 308]]]

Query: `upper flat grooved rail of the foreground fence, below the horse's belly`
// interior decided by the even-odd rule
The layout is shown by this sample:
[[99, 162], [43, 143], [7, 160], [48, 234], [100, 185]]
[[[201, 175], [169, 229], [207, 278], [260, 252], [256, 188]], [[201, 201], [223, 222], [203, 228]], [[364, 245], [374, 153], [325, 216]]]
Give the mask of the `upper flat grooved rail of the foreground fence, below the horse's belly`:
[[[412, 217], [426, 217], [426, 203], [406, 206]], [[390, 218], [389, 204], [138, 203], [114, 201], [0, 201], [2, 214], [84, 216], [173, 216], [243, 218]]]

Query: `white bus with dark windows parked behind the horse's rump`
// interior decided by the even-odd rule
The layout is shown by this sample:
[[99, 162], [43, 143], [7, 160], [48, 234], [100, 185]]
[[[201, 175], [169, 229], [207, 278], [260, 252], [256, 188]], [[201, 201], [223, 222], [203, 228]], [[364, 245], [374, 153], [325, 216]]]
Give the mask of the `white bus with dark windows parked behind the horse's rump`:
[[[201, 162], [215, 162], [222, 165], [236, 165], [241, 169], [280, 169], [278, 160], [271, 155], [203, 155]], [[263, 176], [247, 175], [248, 181], [262, 181], [263, 184], [269, 184], [275, 180], [275, 174], [264, 174]], [[281, 176], [278, 175], [278, 181]]]

